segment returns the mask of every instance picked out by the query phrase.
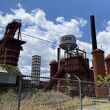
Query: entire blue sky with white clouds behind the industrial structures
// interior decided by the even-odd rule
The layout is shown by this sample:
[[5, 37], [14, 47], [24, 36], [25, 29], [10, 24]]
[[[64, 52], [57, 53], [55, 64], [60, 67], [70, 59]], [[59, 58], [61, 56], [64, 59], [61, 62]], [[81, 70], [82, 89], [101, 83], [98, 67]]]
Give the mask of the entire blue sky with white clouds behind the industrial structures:
[[[37, 54], [42, 59], [42, 72], [48, 72], [62, 35], [75, 35], [78, 46], [86, 50], [91, 60], [90, 15], [95, 16], [98, 48], [105, 51], [105, 56], [110, 53], [109, 4], [110, 0], [0, 0], [0, 27], [21, 19], [22, 33], [35, 38], [22, 34], [27, 43], [20, 55], [20, 69], [30, 74], [32, 56]], [[4, 31], [0, 28], [1, 39]]]

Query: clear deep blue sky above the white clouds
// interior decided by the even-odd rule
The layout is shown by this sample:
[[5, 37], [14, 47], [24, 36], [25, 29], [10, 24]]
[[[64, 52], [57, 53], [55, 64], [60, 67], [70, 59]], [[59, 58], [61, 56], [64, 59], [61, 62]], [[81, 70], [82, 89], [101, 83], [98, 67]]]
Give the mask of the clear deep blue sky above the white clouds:
[[43, 9], [48, 20], [55, 21], [58, 16], [66, 20], [72, 17], [82, 17], [88, 21], [83, 29], [82, 41], [90, 41], [90, 15], [95, 15], [97, 30], [103, 29], [103, 24], [110, 19], [110, 0], [1, 0], [0, 10], [10, 12], [10, 8], [16, 8], [21, 3], [26, 11], [30, 12], [35, 8]]

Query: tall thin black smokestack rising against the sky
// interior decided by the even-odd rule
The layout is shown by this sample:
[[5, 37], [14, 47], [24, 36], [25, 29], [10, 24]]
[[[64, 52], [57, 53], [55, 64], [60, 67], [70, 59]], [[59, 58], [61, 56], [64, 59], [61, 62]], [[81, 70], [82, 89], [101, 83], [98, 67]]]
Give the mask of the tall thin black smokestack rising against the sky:
[[96, 41], [96, 30], [95, 30], [95, 19], [94, 16], [90, 16], [91, 23], [91, 37], [92, 37], [92, 50], [97, 49], [97, 41]]

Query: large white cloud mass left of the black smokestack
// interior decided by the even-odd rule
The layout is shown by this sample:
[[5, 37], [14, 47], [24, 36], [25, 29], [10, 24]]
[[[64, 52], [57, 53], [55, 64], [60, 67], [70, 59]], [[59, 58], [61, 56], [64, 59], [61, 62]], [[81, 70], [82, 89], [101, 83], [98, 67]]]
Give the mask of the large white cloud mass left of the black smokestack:
[[[12, 19], [21, 19], [22, 20], [22, 33], [27, 33], [32, 36], [56, 41], [59, 43], [59, 39], [62, 35], [73, 34], [78, 37], [83, 36], [81, 28], [86, 26], [87, 21], [82, 18], [65, 20], [64, 17], [57, 17], [57, 23], [49, 21], [46, 18], [46, 13], [42, 9], [32, 10], [30, 13], [27, 12], [21, 5], [18, 9], [11, 9], [10, 13], [5, 15], [0, 13], [0, 26], [6, 25]], [[19, 65], [21, 68], [28, 68], [30, 72], [32, 55], [38, 54], [42, 59], [42, 70], [49, 70], [49, 62], [52, 59], [56, 59], [57, 47], [52, 48], [52, 44], [44, 42], [38, 39], [31, 38], [29, 36], [22, 35], [23, 40], [26, 40], [27, 43], [23, 46], [24, 51], [21, 52], [21, 57], [19, 60]], [[78, 42], [80, 47], [86, 48], [87, 51], [90, 51], [90, 44]], [[22, 69], [23, 70], [23, 69]]]

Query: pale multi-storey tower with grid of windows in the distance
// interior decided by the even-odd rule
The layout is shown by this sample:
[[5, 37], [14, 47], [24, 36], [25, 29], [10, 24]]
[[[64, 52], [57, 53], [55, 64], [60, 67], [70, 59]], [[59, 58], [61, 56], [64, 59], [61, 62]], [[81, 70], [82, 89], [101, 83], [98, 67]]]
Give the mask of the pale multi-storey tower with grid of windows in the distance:
[[40, 66], [41, 66], [41, 56], [34, 55], [32, 56], [32, 69], [31, 75], [32, 83], [39, 83], [40, 81]]

